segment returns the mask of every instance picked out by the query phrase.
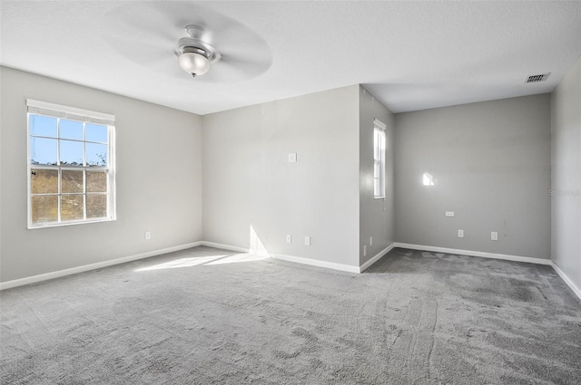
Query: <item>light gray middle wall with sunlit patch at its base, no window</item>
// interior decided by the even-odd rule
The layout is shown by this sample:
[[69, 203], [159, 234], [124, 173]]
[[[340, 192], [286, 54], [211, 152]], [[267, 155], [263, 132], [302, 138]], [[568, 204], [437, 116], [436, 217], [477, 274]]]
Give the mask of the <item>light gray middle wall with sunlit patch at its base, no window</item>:
[[359, 266], [358, 99], [354, 85], [204, 115], [204, 240], [250, 248], [252, 228], [269, 254]]

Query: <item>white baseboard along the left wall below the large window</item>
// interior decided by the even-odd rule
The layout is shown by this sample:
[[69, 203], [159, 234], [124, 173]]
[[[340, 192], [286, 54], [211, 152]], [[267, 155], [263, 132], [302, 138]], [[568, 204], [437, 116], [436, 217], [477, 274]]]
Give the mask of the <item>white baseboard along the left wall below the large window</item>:
[[20, 279], [15, 279], [13, 281], [7, 281], [7, 282], [0, 283], [0, 290], [10, 289], [12, 287], [22, 286], [25, 284], [35, 284], [38, 282], [47, 281], [49, 279], [60, 278], [60, 277], [63, 277], [65, 275], [84, 273], [84, 272], [88, 272], [90, 270], [100, 269], [100, 268], [107, 267], [107, 266], [120, 265], [120, 264], [124, 264], [126, 262], [132, 262], [132, 261], [136, 261], [138, 259], [149, 258], [150, 256], [155, 256], [155, 255], [172, 253], [174, 251], [185, 250], [185, 249], [192, 248], [192, 247], [199, 246], [199, 245], [202, 245], [202, 242], [193, 242], [191, 244], [177, 245], [177, 246], [162, 248], [159, 250], [149, 251], [146, 253], [123, 256], [121, 258], [112, 259], [109, 261], [97, 262], [95, 264], [77, 266], [77, 267], [72, 267], [70, 269], [59, 270], [56, 272], [28, 276], [25, 278], [20, 278]]

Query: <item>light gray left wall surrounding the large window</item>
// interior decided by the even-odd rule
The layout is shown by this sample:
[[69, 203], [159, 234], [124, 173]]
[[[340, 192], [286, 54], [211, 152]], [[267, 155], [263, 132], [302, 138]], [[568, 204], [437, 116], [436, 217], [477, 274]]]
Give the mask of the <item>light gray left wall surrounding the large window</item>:
[[[202, 121], [191, 113], [0, 67], [2, 282], [202, 240]], [[117, 220], [26, 229], [26, 103], [116, 116]], [[145, 241], [143, 233], [152, 232]]]

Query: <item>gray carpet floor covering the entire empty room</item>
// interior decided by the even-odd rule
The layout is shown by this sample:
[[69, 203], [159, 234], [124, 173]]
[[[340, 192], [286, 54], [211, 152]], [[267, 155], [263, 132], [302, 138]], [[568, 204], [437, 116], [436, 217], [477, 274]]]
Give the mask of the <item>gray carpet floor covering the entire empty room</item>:
[[197, 247], [5, 290], [2, 384], [580, 384], [555, 271], [394, 249], [364, 274]]

